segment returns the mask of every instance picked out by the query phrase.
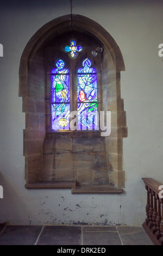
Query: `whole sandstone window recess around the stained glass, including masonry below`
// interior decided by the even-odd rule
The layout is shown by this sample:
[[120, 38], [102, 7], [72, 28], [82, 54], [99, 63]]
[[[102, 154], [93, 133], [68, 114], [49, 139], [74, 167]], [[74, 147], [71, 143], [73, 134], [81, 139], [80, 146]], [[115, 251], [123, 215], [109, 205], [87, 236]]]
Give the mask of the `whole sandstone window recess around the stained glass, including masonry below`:
[[[62, 51], [76, 38], [85, 49], [75, 62]], [[59, 47], [59, 46], [61, 47]], [[96, 46], [103, 53], [93, 57]], [[97, 47], [96, 47], [97, 48]], [[99, 132], [53, 132], [49, 70], [58, 58], [76, 70], [90, 58], [98, 74], [98, 111], [111, 111], [111, 135]], [[72, 64], [73, 63], [73, 64]], [[81, 15], [66, 15], [48, 22], [26, 45], [20, 60], [19, 96], [26, 113], [24, 156], [26, 188], [71, 188], [72, 193], [122, 193], [124, 188], [123, 138], [127, 137], [126, 112], [121, 99], [120, 48], [97, 22]]]

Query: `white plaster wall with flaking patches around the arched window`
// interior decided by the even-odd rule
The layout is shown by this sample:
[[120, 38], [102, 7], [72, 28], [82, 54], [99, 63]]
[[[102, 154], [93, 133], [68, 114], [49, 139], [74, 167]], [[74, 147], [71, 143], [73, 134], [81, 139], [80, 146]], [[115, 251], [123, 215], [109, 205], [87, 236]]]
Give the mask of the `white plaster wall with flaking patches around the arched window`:
[[70, 14], [71, 6], [69, 0], [1, 1], [0, 185], [4, 198], [0, 199], [0, 223], [141, 225], [146, 217], [141, 178], [163, 184], [163, 63], [158, 56], [158, 45], [163, 43], [163, 4], [158, 0], [73, 0], [72, 4], [73, 14], [102, 25], [122, 51], [126, 71], [121, 73], [121, 97], [128, 126], [128, 138], [123, 140], [126, 188], [121, 195], [24, 188], [25, 114], [18, 97], [21, 54], [40, 27]]

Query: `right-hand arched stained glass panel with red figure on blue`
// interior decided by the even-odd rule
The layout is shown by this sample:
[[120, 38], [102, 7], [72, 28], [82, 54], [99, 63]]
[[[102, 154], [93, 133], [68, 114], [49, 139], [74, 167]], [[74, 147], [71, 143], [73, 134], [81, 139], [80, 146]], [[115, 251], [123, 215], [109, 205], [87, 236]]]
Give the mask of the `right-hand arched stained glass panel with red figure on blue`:
[[91, 61], [85, 59], [83, 68], [78, 69], [78, 129], [98, 129], [97, 72]]

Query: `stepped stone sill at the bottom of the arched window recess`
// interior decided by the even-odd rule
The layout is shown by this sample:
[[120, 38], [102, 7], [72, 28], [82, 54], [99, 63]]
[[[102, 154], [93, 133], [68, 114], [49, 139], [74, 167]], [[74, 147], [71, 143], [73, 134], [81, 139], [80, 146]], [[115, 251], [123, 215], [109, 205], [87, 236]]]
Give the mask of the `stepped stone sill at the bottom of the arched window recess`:
[[122, 188], [110, 185], [78, 185], [76, 181], [42, 181], [26, 184], [28, 189], [57, 189], [71, 188], [72, 194], [121, 194]]

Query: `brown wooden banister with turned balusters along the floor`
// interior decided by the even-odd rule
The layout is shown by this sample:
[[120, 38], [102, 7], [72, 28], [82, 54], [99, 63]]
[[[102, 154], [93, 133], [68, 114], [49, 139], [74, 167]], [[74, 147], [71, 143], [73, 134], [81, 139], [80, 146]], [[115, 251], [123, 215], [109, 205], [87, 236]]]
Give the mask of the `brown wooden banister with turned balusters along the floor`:
[[151, 237], [154, 245], [163, 245], [163, 198], [159, 196], [159, 187], [163, 183], [152, 178], [142, 178], [147, 190], [146, 215], [143, 228]]

